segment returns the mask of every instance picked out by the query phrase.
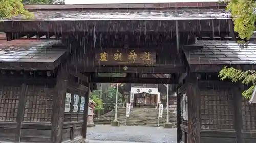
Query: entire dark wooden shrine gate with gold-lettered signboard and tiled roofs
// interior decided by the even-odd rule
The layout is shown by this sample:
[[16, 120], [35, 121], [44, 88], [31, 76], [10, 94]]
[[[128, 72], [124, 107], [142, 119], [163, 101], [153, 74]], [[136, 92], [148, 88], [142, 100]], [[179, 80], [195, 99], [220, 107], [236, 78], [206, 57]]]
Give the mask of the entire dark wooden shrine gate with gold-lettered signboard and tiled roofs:
[[255, 65], [254, 51], [239, 49], [224, 4], [26, 8], [34, 19], [0, 22], [8, 41], [0, 41], [0, 142], [84, 141], [97, 82], [179, 85], [178, 142], [256, 141], [255, 105], [241, 85], [218, 78], [224, 65]]

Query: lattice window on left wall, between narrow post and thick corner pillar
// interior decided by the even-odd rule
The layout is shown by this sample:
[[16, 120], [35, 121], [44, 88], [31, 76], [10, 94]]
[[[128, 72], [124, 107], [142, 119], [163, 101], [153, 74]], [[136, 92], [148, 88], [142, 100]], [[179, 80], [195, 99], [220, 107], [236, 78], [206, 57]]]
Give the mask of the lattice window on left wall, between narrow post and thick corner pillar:
[[51, 122], [53, 89], [29, 85], [25, 105], [25, 122]]

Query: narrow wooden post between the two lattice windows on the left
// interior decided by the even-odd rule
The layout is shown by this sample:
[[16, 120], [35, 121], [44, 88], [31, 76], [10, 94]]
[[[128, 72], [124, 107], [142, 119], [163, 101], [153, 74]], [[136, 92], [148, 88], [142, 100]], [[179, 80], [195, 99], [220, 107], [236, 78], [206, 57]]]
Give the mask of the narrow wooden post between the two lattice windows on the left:
[[25, 104], [26, 104], [26, 96], [27, 96], [27, 85], [26, 83], [22, 84], [22, 91], [20, 92], [19, 98], [18, 98], [18, 112], [17, 112], [17, 133], [15, 136], [15, 142], [20, 142], [20, 135], [22, 134], [22, 122], [24, 118], [24, 110], [25, 110]]

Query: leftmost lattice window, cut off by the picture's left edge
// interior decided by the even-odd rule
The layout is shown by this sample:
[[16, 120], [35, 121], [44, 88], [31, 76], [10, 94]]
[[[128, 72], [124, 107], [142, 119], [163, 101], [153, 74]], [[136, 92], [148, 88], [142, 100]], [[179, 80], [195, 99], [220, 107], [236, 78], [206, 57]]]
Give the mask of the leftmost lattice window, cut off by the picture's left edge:
[[21, 87], [0, 87], [0, 121], [16, 121]]

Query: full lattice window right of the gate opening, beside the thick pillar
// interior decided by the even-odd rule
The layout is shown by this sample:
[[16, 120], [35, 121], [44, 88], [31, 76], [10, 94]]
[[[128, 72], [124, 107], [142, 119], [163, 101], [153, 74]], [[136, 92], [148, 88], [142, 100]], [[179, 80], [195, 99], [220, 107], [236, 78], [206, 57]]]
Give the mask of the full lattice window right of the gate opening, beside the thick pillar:
[[233, 129], [232, 93], [201, 91], [201, 128]]

